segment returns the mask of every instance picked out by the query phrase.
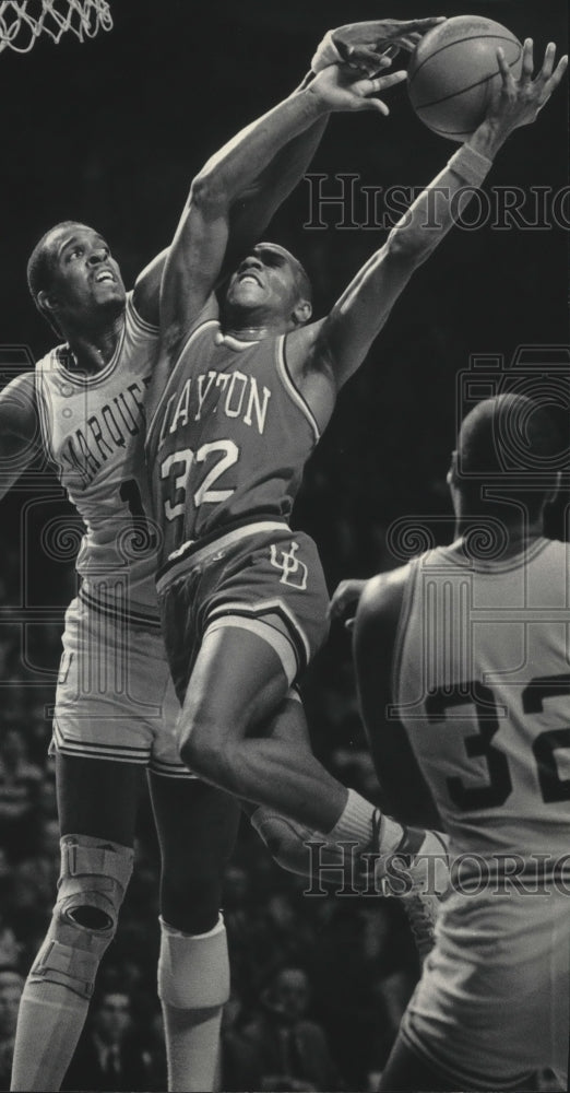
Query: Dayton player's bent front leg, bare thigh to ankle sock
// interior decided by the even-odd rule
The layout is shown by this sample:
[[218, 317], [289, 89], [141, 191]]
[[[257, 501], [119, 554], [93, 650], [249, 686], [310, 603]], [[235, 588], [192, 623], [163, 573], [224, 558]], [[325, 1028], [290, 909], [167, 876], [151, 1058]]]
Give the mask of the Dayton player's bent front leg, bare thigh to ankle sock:
[[[180, 713], [180, 755], [204, 780], [236, 797], [290, 816], [330, 842], [354, 841], [369, 848], [377, 810], [348, 791], [312, 752], [292, 745], [285, 721], [268, 726], [281, 710], [292, 682], [272, 642], [244, 630], [239, 619], [206, 631]], [[402, 836], [387, 821], [383, 850]]]

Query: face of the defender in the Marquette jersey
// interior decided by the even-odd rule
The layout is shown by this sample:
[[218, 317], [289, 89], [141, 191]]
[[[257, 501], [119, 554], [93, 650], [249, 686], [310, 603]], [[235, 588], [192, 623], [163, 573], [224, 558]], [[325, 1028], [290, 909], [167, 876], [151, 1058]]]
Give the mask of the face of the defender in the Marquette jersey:
[[124, 285], [108, 244], [93, 228], [73, 224], [49, 240], [52, 273], [48, 296], [61, 318], [120, 310]]

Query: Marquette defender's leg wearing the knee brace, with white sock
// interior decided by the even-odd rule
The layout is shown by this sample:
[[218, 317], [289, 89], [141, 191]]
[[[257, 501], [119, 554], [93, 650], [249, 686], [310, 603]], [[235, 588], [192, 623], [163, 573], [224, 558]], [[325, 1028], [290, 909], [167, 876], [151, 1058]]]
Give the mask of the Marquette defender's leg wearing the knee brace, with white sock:
[[[61, 873], [48, 932], [26, 980], [13, 1090], [59, 1090], [132, 871], [141, 767], [57, 754]], [[102, 808], [102, 802], [105, 807]]]

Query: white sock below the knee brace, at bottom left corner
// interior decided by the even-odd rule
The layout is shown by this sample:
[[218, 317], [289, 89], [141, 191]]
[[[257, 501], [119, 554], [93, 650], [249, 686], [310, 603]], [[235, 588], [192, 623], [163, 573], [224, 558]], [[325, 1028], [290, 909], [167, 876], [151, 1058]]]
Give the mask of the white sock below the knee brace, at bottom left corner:
[[26, 983], [12, 1063], [12, 1090], [55, 1093], [78, 1045], [88, 999], [59, 983]]

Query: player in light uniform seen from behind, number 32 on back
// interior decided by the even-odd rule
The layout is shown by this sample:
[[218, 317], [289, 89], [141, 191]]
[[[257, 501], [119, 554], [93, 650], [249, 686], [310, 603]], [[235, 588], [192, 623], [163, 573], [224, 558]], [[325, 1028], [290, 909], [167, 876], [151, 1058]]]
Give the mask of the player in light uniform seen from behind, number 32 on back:
[[524, 396], [480, 402], [448, 475], [458, 538], [359, 602], [380, 781], [399, 814], [437, 814], [451, 837], [451, 890], [382, 1090], [537, 1090], [547, 1070], [568, 1089], [570, 550], [543, 537], [563, 448]]

